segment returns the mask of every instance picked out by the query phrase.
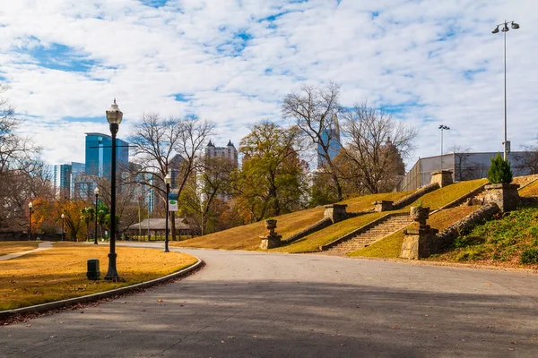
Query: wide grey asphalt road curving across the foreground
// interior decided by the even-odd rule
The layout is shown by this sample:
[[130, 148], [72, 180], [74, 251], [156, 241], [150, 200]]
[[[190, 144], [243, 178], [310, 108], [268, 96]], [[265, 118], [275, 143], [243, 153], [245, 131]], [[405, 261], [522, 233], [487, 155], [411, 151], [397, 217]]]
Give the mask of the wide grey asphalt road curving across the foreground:
[[538, 356], [533, 273], [183, 251], [207, 266], [141, 294], [1, 327], [0, 356]]

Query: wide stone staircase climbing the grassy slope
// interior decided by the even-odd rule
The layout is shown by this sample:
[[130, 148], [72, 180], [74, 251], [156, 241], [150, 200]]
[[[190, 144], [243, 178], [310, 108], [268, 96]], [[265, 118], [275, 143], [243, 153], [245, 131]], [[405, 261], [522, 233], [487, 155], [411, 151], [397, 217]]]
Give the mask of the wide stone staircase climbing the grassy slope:
[[359, 250], [395, 231], [403, 229], [405, 226], [409, 226], [411, 223], [412, 219], [409, 215], [387, 217], [386, 220], [376, 226], [357, 233], [341, 243], [334, 244], [327, 251], [330, 253], [345, 253]]

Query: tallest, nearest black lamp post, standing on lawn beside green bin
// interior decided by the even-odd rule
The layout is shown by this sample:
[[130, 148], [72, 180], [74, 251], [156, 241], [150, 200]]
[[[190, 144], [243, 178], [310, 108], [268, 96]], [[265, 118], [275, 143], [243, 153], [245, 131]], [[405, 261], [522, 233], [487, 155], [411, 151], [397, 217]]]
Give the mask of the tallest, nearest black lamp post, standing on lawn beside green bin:
[[119, 124], [123, 118], [123, 113], [114, 103], [107, 111], [107, 121], [110, 124], [110, 133], [112, 134], [112, 160], [110, 170], [110, 252], [108, 253], [108, 272], [105, 276], [106, 280], [119, 281], [116, 269], [116, 134], [119, 129]]

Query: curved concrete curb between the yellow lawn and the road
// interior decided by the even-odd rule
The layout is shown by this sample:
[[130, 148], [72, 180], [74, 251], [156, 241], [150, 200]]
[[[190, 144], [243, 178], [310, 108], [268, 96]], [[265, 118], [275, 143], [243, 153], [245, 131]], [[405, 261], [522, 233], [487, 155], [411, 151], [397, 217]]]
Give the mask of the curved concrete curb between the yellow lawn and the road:
[[92, 302], [102, 300], [103, 298], [108, 298], [117, 294], [129, 294], [129, 293], [141, 290], [143, 288], [148, 288], [151, 286], [158, 285], [162, 282], [166, 282], [174, 278], [184, 277], [184, 276], [187, 276], [192, 271], [194, 271], [196, 268], [200, 268], [204, 264], [203, 260], [200, 260], [200, 258], [196, 256], [195, 258], [198, 260], [197, 262], [195, 262], [195, 264], [189, 266], [188, 268], [183, 268], [182, 270], [178, 272], [169, 274], [165, 277], [159, 277], [159, 278], [152, 279], [151, 281], [141, 282], [140, 284], [135, 284], [135, 285], [126, 286], [126, 287], [115, 288], [115, 289], [108, 290], [105, 292], [100, 292], [97, 294], [88, 294], [81, 297], [69, 298], [66, 300], [56, 301], [52, 303], [42, 303], [42, 304], [37, 304], [35, 306], [18, 308], [15, 310], [0, 311], [0, 320], [6, 320], [17, 314], [40, 313], [44, 311], [58, 310], [61, 308], [72, 306], [76, 303], [92, 303]]

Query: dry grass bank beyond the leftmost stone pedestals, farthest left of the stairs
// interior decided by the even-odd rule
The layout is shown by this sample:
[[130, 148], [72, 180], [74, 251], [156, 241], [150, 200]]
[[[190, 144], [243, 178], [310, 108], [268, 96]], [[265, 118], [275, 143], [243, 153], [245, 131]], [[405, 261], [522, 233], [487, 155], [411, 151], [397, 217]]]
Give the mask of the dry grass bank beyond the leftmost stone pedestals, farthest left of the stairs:
[[[366, 195], [344, 200], [342, 204], [348, 205], [348, 212], [363, 211], [371, 209], [373, 207], [373, 201], [398, 200], [409, 193], [410, 192], [388, 192]], [[276, 232], [282, 234], [282, 239], [285, 240], [292, 234], [296, 234], [300, 230], [321, 220], [323, 218], [324, 210], [324, 208], [315, 208], [274, 217], [278, 220]], [[218, 233], [207, 234], [201, 237], [195, 237], [193, 239], [170, 244], [180, 247], [199, 247], [205, 249], [257, 250], [260, 245], [259, 236], [265, 234], [265, 232], [265, 222], [260, 221], [255, 224], [233, 227]]]

